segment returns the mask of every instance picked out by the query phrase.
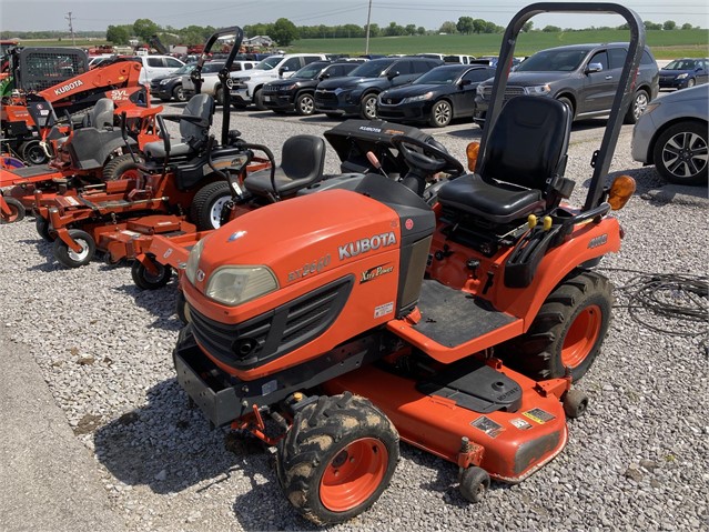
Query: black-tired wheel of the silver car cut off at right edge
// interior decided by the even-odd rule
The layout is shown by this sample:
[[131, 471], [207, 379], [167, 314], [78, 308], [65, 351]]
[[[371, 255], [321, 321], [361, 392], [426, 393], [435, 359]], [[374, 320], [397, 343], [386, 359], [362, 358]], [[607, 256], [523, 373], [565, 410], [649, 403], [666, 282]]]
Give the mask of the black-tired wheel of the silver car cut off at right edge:
[[707, 126], [689, 121], [666, 129], [652, 151], [659, 174], [678, 184], [706, 184], [707, 155]]

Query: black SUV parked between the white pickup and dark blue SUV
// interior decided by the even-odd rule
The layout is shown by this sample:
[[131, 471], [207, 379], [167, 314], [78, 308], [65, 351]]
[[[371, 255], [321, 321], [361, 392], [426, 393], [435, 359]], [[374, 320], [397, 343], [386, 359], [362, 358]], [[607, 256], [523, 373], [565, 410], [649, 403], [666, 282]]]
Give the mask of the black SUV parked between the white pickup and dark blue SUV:
[[315, 88], [324, 79], [348, 76], [359, 63], [353, 61], [316, 61], [303, 67], [291, 78], [274, 80], [263, 86], [263, 104], [273, 112], [295, 110], [307, 116], [315, 112]]

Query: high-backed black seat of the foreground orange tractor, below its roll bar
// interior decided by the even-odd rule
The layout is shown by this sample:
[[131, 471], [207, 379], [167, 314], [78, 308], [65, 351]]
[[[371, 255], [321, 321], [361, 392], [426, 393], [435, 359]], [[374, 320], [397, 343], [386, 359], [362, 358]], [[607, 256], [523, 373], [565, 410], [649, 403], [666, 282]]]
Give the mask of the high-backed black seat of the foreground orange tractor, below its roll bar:
[[548, 212], [568, 198], [564, 178], [571, 113], [551, 98], [509, 100], [493, 126], [479, 173], [456, 178], [438, 191], [452, 207], [494, 223]]

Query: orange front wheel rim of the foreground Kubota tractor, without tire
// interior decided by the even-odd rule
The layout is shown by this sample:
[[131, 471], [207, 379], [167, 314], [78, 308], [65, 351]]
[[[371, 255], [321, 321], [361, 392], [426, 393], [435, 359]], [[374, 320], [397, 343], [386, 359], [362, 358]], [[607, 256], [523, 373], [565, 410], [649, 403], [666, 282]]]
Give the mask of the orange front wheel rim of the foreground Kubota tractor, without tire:
[[388, 452], [374, 438], [350, 443], [333, 458], [320, 482], [320, 499], [332, 512], [346, 512], [365, 502], [384, 480]]

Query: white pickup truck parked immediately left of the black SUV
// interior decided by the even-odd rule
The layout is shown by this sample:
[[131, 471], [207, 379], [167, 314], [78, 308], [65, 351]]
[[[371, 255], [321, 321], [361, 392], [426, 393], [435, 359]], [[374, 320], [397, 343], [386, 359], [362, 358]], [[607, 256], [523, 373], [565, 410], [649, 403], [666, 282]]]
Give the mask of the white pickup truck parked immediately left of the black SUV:
[[285, 56], [271, 56], [264, 59], [254, 69], [244, 74], [231, 74], [232, 103], [235, 107], [245, 108], [254, 103], [256, 109], [265, 111], [261, 88], [269, 81], [278, 78], [290, 78], [297, 70], [314, 61], [324, 61], [324, 53], [286, 53]]

